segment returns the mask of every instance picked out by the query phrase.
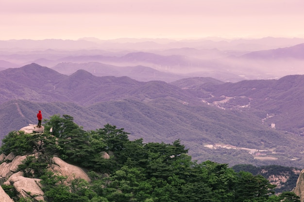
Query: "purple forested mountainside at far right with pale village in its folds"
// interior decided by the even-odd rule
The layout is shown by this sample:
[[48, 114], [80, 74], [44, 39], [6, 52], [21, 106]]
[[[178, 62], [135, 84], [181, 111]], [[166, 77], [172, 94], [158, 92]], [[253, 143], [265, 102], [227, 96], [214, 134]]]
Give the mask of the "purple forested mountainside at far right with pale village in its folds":
[[[290, 75], [272, 80], [244, 80], [218, 86], [203, 87], [212, 91], [207, 102], [217, 101], [225, 109], [264, 111], [265, 124], [275, 124], [277, 129], [303, 134], [304, 76]], [[212, 97], [211, 97], [212, 94]]]

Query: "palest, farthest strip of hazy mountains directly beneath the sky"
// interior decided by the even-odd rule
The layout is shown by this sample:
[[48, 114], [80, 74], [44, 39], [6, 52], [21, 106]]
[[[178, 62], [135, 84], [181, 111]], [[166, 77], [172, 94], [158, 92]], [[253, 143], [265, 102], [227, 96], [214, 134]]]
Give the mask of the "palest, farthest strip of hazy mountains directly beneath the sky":
[[[203, 38], [193, 40], [169, 40], [169, 39], [132, 39], [121, 38], [114, 40], [100, 40], [96, 38], [82, 38], [79, 40], [45, 39], [45, 40], [0, 40], [1, 49], [35, 49], [45, 50], [48, 48], [58, 50], [81, 50], [81, 49], [112, 49], [112, 50], [155, 50], [170, 48], [217, 48], [220, 50], [246, 50], [256, 51], [263, 49], [275, 49], [291, 47], [304, 43], [302, 38], [275, 38], [265, 37], [260, 39], [225, 39]], [[1, 50], [0, 49], [0, 50]]]

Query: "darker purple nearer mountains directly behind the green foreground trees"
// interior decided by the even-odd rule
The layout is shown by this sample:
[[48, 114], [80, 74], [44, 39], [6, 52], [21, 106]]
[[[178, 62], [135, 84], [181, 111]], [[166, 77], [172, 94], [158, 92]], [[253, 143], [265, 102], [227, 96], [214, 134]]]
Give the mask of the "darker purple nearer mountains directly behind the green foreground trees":
[[291, 75], [235, 83], [210, 77], [138, 81], [85, 70], [64, 75], [32, 63], [0, 71], [0, 136], [35, 124], [42, 110], [44, 119], [71, 115], [85, 130], [107, 123], [125, 128], [132, 140], [180, 139], [199, 161], [301, 168], [303, 80]]

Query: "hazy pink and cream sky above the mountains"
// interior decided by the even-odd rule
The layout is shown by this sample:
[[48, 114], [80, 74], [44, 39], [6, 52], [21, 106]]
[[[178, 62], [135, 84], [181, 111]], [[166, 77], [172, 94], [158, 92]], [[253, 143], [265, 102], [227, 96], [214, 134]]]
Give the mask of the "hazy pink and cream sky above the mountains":
[[0, 0], [0, 40], [304, 38], [304, 0]]

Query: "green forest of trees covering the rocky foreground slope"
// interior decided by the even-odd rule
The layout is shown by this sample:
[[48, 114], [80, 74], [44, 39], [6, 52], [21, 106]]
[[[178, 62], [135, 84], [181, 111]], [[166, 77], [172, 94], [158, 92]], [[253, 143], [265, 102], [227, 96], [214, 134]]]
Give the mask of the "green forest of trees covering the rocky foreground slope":
[[[28, 155], [19, 170], [42, 179], [47, 202], [300, 202], [293, 192], [276, 195], [262, 175], [193, 161], [180, 140], [131, 141], [128, 132], [111, 124], [85, 131], [69, 115], [44, 121], [44, 133], [10, 132], [0, 152]], [[91, 182], [49, 171], [52, 156], [83, 168]], [[18, 198], [13, 186], [2, 188], [16, 202], [31, 202]]]

